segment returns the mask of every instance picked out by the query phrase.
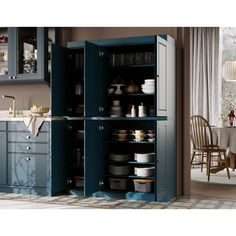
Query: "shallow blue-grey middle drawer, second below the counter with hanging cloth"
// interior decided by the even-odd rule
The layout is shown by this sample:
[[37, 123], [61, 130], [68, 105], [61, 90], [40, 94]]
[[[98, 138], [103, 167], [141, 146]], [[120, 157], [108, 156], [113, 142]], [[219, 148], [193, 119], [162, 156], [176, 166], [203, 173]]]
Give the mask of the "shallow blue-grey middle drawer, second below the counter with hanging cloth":
[[8, 143], [8, 153], [48, 154], [48, 143]]

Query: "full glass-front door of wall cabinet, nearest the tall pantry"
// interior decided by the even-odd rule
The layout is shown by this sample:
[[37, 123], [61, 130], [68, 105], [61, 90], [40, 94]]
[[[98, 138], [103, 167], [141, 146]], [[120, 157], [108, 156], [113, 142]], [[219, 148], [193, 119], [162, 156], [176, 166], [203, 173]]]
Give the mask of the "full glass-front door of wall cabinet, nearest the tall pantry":
[[44, 77], [44, 29], [37, 27], [16, 28], [15, 42], [13, 79], [42, 80]]

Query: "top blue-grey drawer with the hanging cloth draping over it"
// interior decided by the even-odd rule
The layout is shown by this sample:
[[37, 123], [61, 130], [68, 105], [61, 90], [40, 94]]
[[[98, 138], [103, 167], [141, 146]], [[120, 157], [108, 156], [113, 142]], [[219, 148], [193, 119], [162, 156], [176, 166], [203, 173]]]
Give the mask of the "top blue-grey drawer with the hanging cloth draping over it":
[[8, 142], [27, 142], [27, 143], [49, 143], [50, 133], [39, 132], [34, 137], [29, 132], [8, 132]]

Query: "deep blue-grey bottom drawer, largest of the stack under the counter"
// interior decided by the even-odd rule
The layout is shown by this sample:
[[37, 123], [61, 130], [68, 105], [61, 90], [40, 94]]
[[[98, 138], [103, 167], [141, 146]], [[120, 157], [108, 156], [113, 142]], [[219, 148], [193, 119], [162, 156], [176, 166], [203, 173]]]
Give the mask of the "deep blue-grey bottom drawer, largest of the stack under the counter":
[[8, 185], [50, 187], [50, 166], [47, 155], [8, 154]]

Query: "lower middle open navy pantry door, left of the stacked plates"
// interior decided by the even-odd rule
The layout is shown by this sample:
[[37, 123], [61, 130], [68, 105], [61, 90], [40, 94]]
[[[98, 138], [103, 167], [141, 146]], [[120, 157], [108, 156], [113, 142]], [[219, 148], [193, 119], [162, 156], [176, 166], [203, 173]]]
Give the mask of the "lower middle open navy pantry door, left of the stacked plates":
[[84, 192], [91, 195], [104, 189], [104, 126], [102, 121], [85, 121]]

